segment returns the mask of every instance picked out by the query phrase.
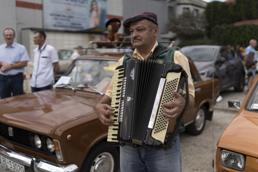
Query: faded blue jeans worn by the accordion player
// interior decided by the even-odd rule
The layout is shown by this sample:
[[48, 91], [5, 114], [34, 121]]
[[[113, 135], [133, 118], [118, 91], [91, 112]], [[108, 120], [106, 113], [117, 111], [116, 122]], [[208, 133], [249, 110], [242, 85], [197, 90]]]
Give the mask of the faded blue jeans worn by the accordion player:
[[179, 134], [176, 134], [168, 150], [148, 149], [143, 146], [120, 147], [121, 172], [181, 172], [182, 152]]

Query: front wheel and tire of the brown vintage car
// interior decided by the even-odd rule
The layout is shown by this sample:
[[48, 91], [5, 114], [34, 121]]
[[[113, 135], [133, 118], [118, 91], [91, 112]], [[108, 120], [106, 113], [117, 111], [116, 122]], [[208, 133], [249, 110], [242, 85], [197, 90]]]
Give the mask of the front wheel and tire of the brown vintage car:
[[100, 142], [88, 152], [80, 171], [118, 172], [120, 171], [119, 159], [117, 147], [107, 142]]

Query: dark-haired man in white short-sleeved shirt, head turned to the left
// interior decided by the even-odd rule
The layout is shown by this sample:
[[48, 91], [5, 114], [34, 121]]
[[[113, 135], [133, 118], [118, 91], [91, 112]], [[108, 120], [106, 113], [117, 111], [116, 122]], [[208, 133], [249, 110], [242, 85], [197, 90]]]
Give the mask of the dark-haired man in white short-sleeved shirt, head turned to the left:
[[46, 34], [42, 30], [34, 32], [34, 44], [39, 47], [34, 52], [34, 68], [30, 80], [31, 91], [42, 91], [51, 88], [54, 83], [54, 72], [59, 70], [57, 50], [45, 42]]

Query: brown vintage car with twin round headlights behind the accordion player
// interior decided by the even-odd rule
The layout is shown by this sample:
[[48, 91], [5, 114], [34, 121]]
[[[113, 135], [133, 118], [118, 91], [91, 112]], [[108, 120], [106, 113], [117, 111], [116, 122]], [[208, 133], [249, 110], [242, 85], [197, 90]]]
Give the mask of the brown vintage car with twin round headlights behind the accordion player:
[[[101, 99], [121, 53], [81, 56], [64, 76], [69, 84], [0, 100], [0, 161], [13, 171], [119, 171], [119, 147], [107, 143], [94, 106]], [[202, 132], [219, 96], [219, 80], [201, 78], [189, 59], [195, 106], [186, 112], [189, 133]], [[65, 77], [64, 77], [65, 78]], [[61, 78], [63, 79], [63, 78]], [[61, 80], [60, 79], [60, 80]], [[91, 87], [94, 86], [94, 87]], [[214, 93], [214, 95], [212, 94]]]

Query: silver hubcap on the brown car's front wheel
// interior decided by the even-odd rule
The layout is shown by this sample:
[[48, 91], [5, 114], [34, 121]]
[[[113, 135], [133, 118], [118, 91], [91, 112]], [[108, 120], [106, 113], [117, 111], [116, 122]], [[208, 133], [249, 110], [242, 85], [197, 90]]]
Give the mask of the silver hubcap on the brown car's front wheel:
[[99, 154], [92, 163], [91, 172], [112, 172], [114, 171], [114, 158], [108, 152]]

